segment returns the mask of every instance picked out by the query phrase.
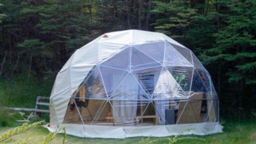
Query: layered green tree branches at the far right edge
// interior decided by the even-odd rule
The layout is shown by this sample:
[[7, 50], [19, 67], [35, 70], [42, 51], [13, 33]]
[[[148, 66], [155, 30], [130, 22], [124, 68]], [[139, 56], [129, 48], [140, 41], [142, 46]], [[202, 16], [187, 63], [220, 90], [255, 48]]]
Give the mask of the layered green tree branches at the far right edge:
[[[228, 13], [225, 14], [222, 27], [213, 36], [216, 38], [214, 48], [209, 49], [217, 60], [226, 60], [232, 64], [228, 76], [230, 82], [245, 81], [245, 84], [256, 84], [255, 75], [255, 1], [226, 2]], [[219, 57], [220, 55], [223, 55]], [[219, 58], [218, 58], [219, 57]]]

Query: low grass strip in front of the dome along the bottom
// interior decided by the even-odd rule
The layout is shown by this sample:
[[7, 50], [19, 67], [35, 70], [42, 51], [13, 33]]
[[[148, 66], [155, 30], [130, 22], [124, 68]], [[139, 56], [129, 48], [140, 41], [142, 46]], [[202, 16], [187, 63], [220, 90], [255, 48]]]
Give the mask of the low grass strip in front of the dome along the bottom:
[[[256, 143], [256, 122], [226, 122], [224, 125], [224, 133], [212, 134], [205, 136], [184, 135], [180, 137], [198, 137], [205, 139], [181, 139], [177, 143]], [[11, 128], [0, 128], [0, 135], [11, 130]], [[42, 126], [37, 126], [22, 134], [14, 135], [3, 143], [21, 143], [22, 140], [28, 139], [28, 143], [41, 143], [49, 131]], [[68, 135], [66, 143], [139, 143], [147, 137], [132, 137], [126, 139], [98, 139], [98, 138], [81, 138]], [[51, 143], [62, 143], [62, 134], [58, 134]], [[160, 139], [158, 137], [150, 137], [150, 139]], [[158, 141], [158, 143], [167, 143], [166, 140]]]

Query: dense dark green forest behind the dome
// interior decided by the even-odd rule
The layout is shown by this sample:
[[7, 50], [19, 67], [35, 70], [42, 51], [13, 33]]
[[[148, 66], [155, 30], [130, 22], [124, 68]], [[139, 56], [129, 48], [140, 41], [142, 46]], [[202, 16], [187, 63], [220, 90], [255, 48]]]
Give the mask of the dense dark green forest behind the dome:
[[254, 0], [0, 0], [0, 77], [26, 71], [40, 81], [102, 33], [160, 31], [207, 67], [224, 115], [248, 116], [256, 107], [255, 7]]

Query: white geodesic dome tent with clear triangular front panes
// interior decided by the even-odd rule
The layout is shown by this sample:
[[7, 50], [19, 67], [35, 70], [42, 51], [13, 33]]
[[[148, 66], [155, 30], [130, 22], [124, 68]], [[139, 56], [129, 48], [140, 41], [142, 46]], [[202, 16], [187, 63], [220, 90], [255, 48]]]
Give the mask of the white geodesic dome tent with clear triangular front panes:
[[162, 33], [101, 35], [74, 52], [51, 93], [51, 125], [79, 137], [222, 132], [211, 77], [191, 50]]

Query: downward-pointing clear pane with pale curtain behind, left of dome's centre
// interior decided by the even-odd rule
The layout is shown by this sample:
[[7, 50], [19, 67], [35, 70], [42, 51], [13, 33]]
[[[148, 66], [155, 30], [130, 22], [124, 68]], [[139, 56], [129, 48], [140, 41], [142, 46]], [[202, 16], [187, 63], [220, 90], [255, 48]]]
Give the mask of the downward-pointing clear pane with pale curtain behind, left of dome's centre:
[[108, 95], [116, 90], [117, 86], [125, 79], [127, 71], [121, 69], [114, 69], [110, 67], [100, 66], [100, 72], [104, 81], [104, 86]]

